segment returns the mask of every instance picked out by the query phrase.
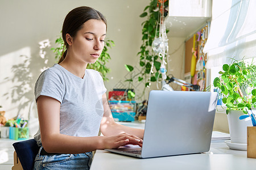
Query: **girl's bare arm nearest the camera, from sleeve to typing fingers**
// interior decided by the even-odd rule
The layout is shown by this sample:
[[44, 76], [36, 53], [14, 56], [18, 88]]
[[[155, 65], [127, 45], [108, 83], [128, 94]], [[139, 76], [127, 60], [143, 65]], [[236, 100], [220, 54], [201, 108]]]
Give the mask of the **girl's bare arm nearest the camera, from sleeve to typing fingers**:
[[60, 134], [60, 102], [52, 97], [37, 100], [40, 134], [44, 150], [49, 153], [79, 154], [97, 149], [118, 148], [129, 142], [138, 143], [132, 135], [111, 137], [73, 137]]

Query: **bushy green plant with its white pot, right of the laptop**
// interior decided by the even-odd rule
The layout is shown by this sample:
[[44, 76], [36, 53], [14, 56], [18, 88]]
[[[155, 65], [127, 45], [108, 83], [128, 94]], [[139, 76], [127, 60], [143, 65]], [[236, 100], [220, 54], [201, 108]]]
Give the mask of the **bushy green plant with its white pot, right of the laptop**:
[[226, 104], [229, 132], [232, 143], [247, 143], [247, 126], [252, 126], [251, 120], [240, 120], [246, 110], [256, 107], [256, 66], [245, 61], [236, 61], [222, 66], [220, 77], [213, 81], [214, 87]]

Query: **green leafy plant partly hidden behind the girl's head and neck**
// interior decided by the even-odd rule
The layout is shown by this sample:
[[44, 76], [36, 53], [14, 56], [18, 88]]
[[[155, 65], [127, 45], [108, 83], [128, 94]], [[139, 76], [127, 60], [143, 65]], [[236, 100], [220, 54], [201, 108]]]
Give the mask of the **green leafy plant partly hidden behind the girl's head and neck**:
[[[64, 41], [62, 37], [58, 37], [55, 41], [57, 44], [56, 48], [51, 48], [51, 50], [55, 53], [55, 59], [56, 61], [59, 61], [60, 57], [62, 56], [63, 51], [65, 51]], [[107, 78], [107, 74], [109, 73], [110, 69], [109, 67], [106, 67], [106, 63], [109, 62], [109, 59], [111, 59], [108, 50], [109, 48], [112, 48], [114, 46], [114, 41], [112, 40], [105, 40], [105, 46], [101, 52], [101, 56], [98, 58], [98, 60], [93, 64], [88, 64], [87, 69], [93, 69], [97, 70], [101, 73], [102, 78], [104, 80], [109, 80]]]

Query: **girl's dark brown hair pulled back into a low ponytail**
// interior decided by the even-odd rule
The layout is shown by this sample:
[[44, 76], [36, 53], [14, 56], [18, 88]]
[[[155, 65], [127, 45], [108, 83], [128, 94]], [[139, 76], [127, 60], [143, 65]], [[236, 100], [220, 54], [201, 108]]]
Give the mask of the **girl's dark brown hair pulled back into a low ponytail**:
[[106, 19], [101, 14], [101, 12], [94, 10], [94, 8], [91, 7], [77, 7], [68, 13], [62, 27], [62, 38], [66, 50], [65, 52], [63, 51], [58, 63], [62, 62], [67, 55], [68, 43], [66, 40], [66, 34], [69, 33], [71, 37], [75, 37], [77, 31], [79, 31], [82, 28], [82, 25], [90, 19], [102, 20], [102, 22], [104, 22], [107, 25]]

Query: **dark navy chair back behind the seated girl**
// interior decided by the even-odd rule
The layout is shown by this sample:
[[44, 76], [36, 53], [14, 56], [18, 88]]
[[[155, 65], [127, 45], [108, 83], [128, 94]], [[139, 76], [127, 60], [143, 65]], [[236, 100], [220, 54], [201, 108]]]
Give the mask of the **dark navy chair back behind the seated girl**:
[[28, 139], [13, 143], [13, 147], [19, 158], [20, 164], [24, 170], [31, 170], [34, 168], [34, 160], [39, 151], [39, 146], [35, 139]]

